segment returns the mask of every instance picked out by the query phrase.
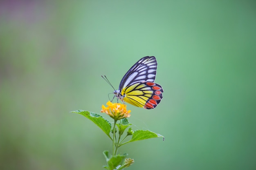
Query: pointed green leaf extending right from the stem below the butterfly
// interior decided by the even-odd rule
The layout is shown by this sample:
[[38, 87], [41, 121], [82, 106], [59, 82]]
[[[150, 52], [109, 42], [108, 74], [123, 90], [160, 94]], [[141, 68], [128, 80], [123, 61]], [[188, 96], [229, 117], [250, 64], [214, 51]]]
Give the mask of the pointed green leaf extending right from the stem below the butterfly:
[[135, 130], [133, 132], [132, 139], [130, 139], [130, 141], [125, 142], [124, 144], [132, 141], [139, 141], [139, 140], [150, 139], [154, 137], [163, 137], [163, 136], [155, 132], [151, 132], [149, 130]]

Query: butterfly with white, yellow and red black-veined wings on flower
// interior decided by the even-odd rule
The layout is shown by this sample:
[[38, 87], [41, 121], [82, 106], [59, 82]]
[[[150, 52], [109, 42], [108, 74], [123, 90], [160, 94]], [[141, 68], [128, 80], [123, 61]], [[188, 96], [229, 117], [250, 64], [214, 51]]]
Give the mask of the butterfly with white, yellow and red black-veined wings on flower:
[[115, 97], [137, 107], [155, 108], [164, 92], [162, 86], [154, 82], [156, 71], [157, 60], [154, 56], [141, 58], [124, 75], [118, 90], [114, 91]]

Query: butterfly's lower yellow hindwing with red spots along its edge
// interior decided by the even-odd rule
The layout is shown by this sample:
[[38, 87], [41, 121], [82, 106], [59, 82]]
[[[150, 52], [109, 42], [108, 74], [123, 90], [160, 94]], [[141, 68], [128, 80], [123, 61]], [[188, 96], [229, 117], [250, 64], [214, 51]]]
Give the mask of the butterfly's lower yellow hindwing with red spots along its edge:
[[162, 99], [163, 88], [154, 82], [137, 82], [121, 91], [124, 101], [137, 107], [152, 109]]

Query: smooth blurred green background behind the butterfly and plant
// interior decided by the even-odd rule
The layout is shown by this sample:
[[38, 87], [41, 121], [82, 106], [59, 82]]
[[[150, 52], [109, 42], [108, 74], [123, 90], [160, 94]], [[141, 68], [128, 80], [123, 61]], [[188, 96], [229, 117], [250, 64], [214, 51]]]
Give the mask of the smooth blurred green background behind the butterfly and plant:
[[[128, 69], [158, 62], [153, 110], [128, 105], [130, 170], [256, 169], [256, 3], [1, 1], [0, 169], [99, 170], [109, 138], [72, 110], [100, 113]], [[101, 113], [103, 115], [103, 113]], [[109, 119], [106, 115], [103, 115]], [[110, 120], [110, 119], [109, 119]]]

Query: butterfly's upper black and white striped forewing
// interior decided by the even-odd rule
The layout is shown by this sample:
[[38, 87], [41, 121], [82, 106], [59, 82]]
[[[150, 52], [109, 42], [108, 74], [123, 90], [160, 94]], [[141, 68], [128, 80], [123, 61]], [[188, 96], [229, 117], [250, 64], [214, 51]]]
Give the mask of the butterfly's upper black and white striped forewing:
[[157, 72], [157, 60], [154, 56], [146, 56], [135, 63], [122, 78], [119, 90], [137, 82], [154, 82]]

